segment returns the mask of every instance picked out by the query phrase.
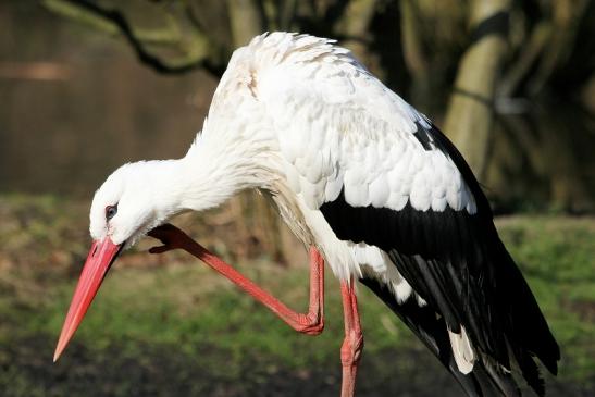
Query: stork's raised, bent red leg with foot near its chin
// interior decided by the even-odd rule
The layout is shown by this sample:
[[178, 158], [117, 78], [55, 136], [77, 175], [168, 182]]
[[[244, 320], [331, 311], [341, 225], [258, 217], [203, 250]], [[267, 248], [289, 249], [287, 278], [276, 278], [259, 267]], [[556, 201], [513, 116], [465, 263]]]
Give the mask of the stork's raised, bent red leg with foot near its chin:
[[289, 309], [177, 227], [163, 225], [152, 229], [149, 236], [164, 244], [161, 247], [151, 248], [149, 250], [151, 253], [161, 253], [176, 248], [186, 250], [250, 294], [297, 332], [318, 335], [324, 328], [324, 259], [314, 247], [310, 248], [310, 305], [308, 313], [305, 314]]

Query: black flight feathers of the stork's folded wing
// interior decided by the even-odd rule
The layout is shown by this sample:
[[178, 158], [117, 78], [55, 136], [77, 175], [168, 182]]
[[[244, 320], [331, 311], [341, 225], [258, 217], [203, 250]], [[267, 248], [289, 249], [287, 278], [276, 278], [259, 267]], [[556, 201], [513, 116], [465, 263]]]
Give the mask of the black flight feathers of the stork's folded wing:
[[[418, 128], [423, 127], [418, 124]], [[418, 211], [409, 203], [400, 211], [372, 206], [351, 207], [343, 191], [320, 210], [339, 239], [363, 241], [387, 252], [429, 308], [442, 314], [443, 328], [458, 333], [463, 325], [473, 346], [505, 368], [510, 368], [510, 347], [528, 383], [543, 395], [543, 380], [533, 356], [556, 373], [560, 358], [558, 345], [533, 294], [498, 237], [489, 203], [469, 165], [436, 127], [424, 129], [421, 137], [424, 150], [443, 151], [459, 169], [475, 199], [475, 214], [449, 207], [442, 212]], [[368, 286], [372, 283], [362, 282]], [[381, 297], [393, 308], [393, 302], [384, 295]], [[420, 325], [414, 322], [421, 321], [422, 314], [412, 314], [413, 309], [409, 307], [393, 309], [408, 319], [406, 323], [418, 335], [421, 333], [416, 330]], [[422, 334], [432, 334], [437, 340], [437, 324], [426, 324]], [[441, 332], [446, 333], [446, 330]], [[447, 363], [445, 365], [449, 368]], [[475, 367], [487, 375], [501, 372]], [[488, 377], [496, 383], [501, 381], [501, 376], [496, 381]]]

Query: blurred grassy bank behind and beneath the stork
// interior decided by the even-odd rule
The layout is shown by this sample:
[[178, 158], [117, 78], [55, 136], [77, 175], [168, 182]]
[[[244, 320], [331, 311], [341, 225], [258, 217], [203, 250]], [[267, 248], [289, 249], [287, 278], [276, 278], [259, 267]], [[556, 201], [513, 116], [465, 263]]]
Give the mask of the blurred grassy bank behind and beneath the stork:
[[[86, 255], [85, 207], [55, 198], [0, 198], [3, 396], [338, 395], [343, 323], [338, 283], [330, 272], [326, 328], [310, 337], [184, 255], [149, 258], [142, 252], [148, 245], [114, 266], [73, 344], [52, 364]], [[528, 215], [498, 220], [498, 228], [562, 347], [560, 374], [548, 379], [550, 395], [595, 393], [595, 221]], [[237, 268], [305, 309], [305, 266], [253, 258]], [[363, 287], [360, 306], [365, 350], [359, 395], [460, 395]]]

